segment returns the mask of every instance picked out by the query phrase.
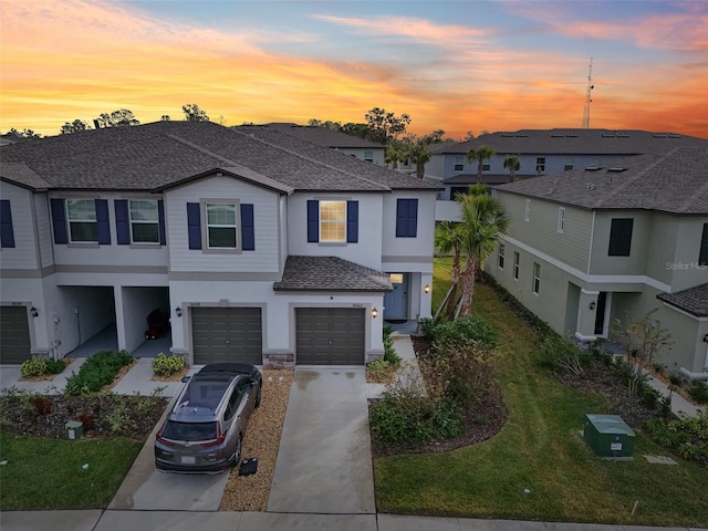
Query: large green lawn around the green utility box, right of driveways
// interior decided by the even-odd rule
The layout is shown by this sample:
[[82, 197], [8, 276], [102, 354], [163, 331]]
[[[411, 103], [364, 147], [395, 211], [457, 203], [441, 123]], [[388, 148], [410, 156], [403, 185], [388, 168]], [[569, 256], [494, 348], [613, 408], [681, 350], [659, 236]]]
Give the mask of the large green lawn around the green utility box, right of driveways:
[[[449, 282], [436, 260], [434, 304]], [[604, 398], [560, 385], [533, 361], [533, 333], [493, 291], [478, 284], [473, 312], [499, 332], [499, 382], [509, 419], [492, 439], [459, 450], [376, 459], [381, 512], [542, 521], [706, 525], [708, 472], [649, 465], [669, 455], [637, 434], [632, 462], [596, 459], [579, 431]], [[636, 510], [632, 514], [636, 502]]]

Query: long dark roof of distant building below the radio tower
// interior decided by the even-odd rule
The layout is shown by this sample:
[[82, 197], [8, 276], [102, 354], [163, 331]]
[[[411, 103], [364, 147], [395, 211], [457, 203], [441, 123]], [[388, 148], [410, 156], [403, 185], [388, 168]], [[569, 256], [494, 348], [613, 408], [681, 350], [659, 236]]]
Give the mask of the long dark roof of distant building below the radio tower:
[[520, 129], [489, 133], [468, 142], [430, 146], [435, 155], [465, 155], [470, 147], [488, 146], [497, 155], [641, 155], [676, 146], [706, 146], [708, 140], [674, 133], [615, 129]]

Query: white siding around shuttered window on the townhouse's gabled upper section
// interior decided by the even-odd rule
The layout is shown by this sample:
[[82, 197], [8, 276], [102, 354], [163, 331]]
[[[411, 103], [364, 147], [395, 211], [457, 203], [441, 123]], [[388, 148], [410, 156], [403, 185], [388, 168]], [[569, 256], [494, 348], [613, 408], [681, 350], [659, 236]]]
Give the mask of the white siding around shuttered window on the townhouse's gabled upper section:
[[[188, 272], [278, 272], [278, 194], [230, 177], [205, 178], [165, 194], [165, 216], [169, 242], [170, 271]], [[256, 250], [214, 253], [190, 250], [187, 235], [187, 202], [233, 199], [253, 205]], [[204, 225], [204, 212], [202, 220]], [[202, 242], [204, 243], [204, 242]]]

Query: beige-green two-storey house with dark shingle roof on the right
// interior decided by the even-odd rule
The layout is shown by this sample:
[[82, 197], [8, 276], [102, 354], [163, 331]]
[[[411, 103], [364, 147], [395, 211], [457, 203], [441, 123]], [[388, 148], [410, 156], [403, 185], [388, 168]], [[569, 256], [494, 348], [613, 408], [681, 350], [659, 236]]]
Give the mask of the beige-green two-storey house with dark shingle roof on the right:
[[499, 186], [510, 232], [486, 263], [524, 306], [581, 342], [653, 324], [655, 361], [708, 377], [708, 147], [677, 147]]

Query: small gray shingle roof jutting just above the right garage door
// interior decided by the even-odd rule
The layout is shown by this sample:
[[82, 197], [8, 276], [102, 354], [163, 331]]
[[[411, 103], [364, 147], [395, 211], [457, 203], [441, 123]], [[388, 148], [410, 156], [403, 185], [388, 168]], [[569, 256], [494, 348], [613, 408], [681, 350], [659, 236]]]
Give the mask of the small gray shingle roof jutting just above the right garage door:
[[388, 275], [337, 257], [288, 257], [274, 291], [392, 291]]

